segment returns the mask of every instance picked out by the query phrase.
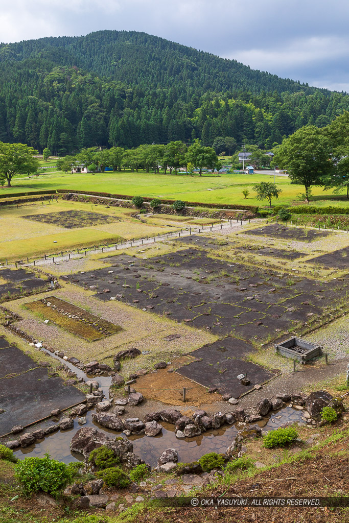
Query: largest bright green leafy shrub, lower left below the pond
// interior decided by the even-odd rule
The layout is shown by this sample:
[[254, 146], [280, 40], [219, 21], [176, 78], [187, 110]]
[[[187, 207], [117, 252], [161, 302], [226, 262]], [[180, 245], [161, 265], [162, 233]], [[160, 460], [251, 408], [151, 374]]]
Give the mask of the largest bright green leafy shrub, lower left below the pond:
[[59, 494], [71, 481], [71, 472], [65, 463], [44, 458], [25, 458], [15, 465], [15, 477], [21, 483], [25, 495], [43, 491], [53, 496]]

